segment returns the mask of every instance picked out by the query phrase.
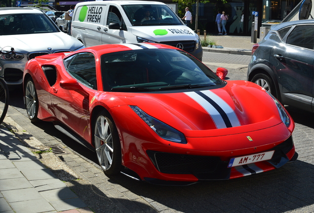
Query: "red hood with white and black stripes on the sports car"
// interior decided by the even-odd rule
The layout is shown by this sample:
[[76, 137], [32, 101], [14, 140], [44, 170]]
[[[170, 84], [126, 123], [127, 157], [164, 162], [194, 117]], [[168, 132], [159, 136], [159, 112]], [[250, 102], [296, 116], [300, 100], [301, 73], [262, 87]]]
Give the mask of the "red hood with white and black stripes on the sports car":
[[254, 124], [263, 128], [282, 122], [274, 100], [247, 81], [228, 82], [223, 88], [211, 90], [138, 94], [129, 100], [179, 131], [245, 128]]

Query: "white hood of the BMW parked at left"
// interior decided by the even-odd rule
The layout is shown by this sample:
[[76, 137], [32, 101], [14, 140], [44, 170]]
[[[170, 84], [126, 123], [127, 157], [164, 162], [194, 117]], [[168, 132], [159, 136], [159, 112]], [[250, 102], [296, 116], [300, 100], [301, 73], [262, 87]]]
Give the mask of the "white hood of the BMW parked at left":
[[59, 33], [25, 34], [0, 36], [0, 47], [13, 47], [17, 53], [27, 54], [35, 51], [53, 53], [56, 50], [74, 51], [82, 46], [76, 38]]

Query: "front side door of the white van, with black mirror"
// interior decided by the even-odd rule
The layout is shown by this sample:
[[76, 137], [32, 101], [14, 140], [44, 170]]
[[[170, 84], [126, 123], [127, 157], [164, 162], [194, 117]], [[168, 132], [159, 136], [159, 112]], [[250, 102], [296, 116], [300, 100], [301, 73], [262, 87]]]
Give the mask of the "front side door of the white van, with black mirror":
[[[105, 21], [106, 26], [102, 34], [102, 43], [125, 43], [127, 28], [118, 7], [110, 5]], [[116, 23], [116, 26], [119, 25], [119, 28], [115, 27], [110, 29], [111, 27], [109, 27], [109, 25], [114, 23]]]

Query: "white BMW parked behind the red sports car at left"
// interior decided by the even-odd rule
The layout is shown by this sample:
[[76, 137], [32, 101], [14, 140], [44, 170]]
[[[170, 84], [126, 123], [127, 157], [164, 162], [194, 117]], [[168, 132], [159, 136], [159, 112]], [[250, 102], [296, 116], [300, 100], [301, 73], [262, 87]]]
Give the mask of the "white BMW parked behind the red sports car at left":
[[62, 33], [41, 10], [0, 8], [0, 48], [15, 49], [15, 57], [0, 57], [0, 76], [7, 84], [21, 84], [25, 63], [36, 56], [83, 48], [76, 38]]

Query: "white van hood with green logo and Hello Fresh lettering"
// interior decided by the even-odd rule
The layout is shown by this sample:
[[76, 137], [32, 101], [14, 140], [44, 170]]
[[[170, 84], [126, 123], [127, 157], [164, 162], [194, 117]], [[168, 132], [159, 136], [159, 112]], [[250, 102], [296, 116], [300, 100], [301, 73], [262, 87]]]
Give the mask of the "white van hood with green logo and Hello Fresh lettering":
[[194, 31], [185, 25], [132, 27], [132, 34], [156, 42], [198, 39]]

